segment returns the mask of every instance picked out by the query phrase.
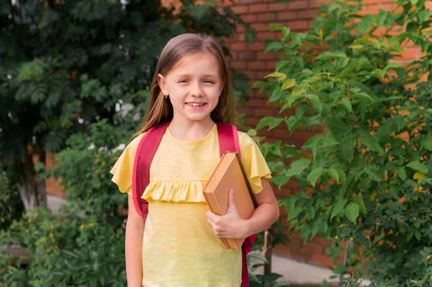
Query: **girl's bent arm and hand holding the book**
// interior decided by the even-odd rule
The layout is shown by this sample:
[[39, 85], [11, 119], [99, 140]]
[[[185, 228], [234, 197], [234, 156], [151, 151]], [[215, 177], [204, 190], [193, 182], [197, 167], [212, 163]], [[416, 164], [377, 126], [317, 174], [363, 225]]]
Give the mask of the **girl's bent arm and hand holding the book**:
[[248, 220], [240, 217], [235, 198], [230, 193], [228, 211], [226, 215], [219, 216], [211, 211], [206, 213], [207, 220], [218, 237], [245, 238], [266, 230], [279, 217], [279, 206], [270, 182], [261, 179], [262, 191], [255, 194], [257, 209]]

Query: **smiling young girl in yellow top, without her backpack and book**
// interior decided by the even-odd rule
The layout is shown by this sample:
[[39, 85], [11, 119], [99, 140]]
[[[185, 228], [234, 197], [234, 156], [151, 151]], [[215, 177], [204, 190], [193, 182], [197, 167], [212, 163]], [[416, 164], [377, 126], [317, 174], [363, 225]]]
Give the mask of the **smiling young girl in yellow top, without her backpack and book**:
[[[277, 220], [279, 208], [264, 156], [247, 134], [238, 132], [257, 209], [249, 220], [242, 220], [230, 193], [226, 215], [208, 211], [202, 189], [220, 160], [215, 123], [227, 123], [233, 108], [228, 65], [217, 41], [202, 34], [181, 34], [168, 41], [156, 67], [143, 126], [111, 170], [112, 181], [129, 194], [128, 287], [241, 284], [242, 251], [228, 249], [220, 237], [263, 231]], [[149, 202], [144, 222], [130, 196], [135, 151], [148, 129], [167, 122], [142, 195]]]

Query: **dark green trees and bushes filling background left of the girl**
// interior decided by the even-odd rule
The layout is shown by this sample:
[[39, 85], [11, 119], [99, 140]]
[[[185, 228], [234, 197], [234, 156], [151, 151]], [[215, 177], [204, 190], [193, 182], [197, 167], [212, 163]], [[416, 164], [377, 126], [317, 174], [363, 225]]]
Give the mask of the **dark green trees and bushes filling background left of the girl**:
[[[1, 248], [0, 286], [126, 286], [127, 198], [109, 171], [140, 124], [157, 55], [184, 32], [223, 44], [242, 25], [255, 36], [214, 1], [180, 2], [0, 1], [0, 165], [27, 209], [2, 222], [0, 246], [19, 244], [26, 256]], [[234, 81], [244, 100], [246, 77]], [[46, 151], [57, 153], [49, 171]], [[67, 191], [56, 215], [43, 207], [50, 176]]]

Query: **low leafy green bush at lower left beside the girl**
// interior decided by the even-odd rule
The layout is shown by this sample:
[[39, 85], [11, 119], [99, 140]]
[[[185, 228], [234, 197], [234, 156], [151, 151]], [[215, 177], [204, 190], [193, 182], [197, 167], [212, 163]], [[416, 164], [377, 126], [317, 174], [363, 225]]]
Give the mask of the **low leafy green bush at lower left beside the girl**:
[[25, 246], [31, 257], [27, 266], [14, 266], [12, 257], [0, 257], [5, 286], [126, 285], [127, 198], [109, 174], [121, 152], [115, 147], [127, 141], [126, 134], [127, 129], [101, 120], [92, 125], [90, 137], [75, 134], [68, 140], [68, 149], [56, 157], [57, 165], [43, 174], [62, 178], [68, 204], [57, 215], [32, 209], [1, 234], [0, 244]]

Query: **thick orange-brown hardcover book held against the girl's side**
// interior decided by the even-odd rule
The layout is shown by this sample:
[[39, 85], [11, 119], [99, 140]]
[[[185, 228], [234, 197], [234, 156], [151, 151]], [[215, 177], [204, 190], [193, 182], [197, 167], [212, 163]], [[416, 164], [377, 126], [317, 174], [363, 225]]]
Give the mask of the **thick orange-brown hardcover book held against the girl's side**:
[[[226, 214], [230, 189], [234, 191], [235, 205], [240, 217], [244, 220], [251, 218], [257, 204], [236, 151], [224, 153], [204, 186], [204, 197], [210, 211], [217, 215]], [[223, 238], [223, 240], [228, 248], [237, 250], [242, 248], [244, 242], [244, 238]]]

